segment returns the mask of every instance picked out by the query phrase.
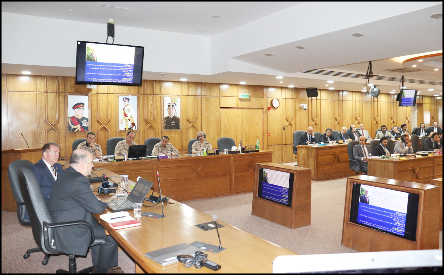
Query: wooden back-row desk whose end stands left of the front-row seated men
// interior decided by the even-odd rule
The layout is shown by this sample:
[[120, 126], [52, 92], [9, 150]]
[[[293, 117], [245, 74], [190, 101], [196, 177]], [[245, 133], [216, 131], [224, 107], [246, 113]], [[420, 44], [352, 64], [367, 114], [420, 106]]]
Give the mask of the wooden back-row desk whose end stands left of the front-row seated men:
[[297, 166], [311, 168], [312, 180], [355, 175], [350, 170], [347, 144], [297, 145]]

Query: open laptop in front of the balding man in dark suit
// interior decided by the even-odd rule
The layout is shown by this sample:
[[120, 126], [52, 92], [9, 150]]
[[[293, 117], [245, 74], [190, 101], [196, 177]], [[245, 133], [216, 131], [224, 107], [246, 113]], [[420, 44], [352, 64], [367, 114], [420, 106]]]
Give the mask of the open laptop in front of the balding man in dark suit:
[[139, 178], [127, 198], [110, 201], [107, 203], [108, 207], [113, 212], [133, 209], [133, 203], [142, 203], [151, 186], [153, 186], [151, 181]]

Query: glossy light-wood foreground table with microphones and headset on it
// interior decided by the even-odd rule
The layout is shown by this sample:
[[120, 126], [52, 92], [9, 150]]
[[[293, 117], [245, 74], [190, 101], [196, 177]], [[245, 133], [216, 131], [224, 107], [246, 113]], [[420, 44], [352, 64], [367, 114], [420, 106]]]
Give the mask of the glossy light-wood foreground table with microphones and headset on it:
[[[107, 172], [107, 175], [116, 175]], [[97, 187], [99, 183], [91, 184]], [[110, 195], [99, 195], [103, 201], [111, 199]], [[174, 202], [174, 200], [171, 200]], [[145, 202], [145, 205], [151, 203]], [[143, 212], [162, 213], [161, 208], [143, 207]], [[101, 214], [106, 214], [105, 210]], [[134, 216], [133, 211], [129, 211]], [[108, 223], [99, 221], [100, 214], [94, 218], [109, 232], [119, 245], [134, 259], [136, 272], [148, 273], [213, 273], [214, 271], [202, 267], [186, 268], [182, 263], [174, 263], [163, 267], [145, 257], [146, 252], [169, 247], [179, 243], [193, 243], [200, 241], [218, 246], [218, 235], [215, 230], [203, 231], [194, 225], [210, 222], [211, 216], [191, 208], [183, 203], [170, 204], [164, 207], [163, 219], [151, 219], [142, 216], [140, 227], [126, 228], [115, 231]], [[272, 273], [272, 263], [280, 255], [298, 255], [286, 248], [270, 243], [264, 239], [232, 227], [228, 223], [218, 221], [224, 227], [219, 229], [222, 247], [225, 250], [214, 254], [206, 252], [208, 259], [222, 266], [218, 273]], [[196, 248], [196, 251], [198, 249]]]

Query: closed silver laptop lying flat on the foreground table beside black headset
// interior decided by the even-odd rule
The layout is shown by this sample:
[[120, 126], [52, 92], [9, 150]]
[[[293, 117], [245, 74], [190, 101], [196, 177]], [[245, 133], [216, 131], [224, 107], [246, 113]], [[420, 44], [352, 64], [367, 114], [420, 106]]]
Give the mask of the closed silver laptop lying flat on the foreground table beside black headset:
[[152, 259], [156, 263], [167, 266], [172, 263], [177, 263], [177, 255], [191, 255], [194, 256], [199, 248], [194, 247], [188, 243], [180, 243], [170, 247], [165, 247], [159, 250], [145, 253], [145, 256]]

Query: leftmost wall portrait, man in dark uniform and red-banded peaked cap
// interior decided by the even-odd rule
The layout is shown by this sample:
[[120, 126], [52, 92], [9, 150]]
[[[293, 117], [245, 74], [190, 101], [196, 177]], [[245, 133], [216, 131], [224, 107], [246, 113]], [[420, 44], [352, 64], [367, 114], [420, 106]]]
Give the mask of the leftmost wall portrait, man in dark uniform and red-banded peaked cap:
[[89, 96], [68, 95], [68, 132], [89, 132]]

